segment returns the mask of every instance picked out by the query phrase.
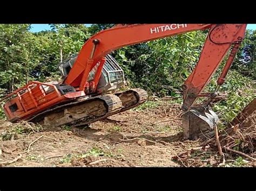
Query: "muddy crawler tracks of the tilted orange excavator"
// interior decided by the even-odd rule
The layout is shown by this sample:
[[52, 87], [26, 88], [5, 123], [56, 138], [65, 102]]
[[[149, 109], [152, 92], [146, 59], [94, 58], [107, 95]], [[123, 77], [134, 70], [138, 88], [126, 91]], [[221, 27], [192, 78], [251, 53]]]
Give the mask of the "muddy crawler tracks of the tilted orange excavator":
[[147, 93], [140, 88], [116, 94], [87, 96], [46, 110], [29, 121], [49, 126], [81, 126], [132, 109], [146, 100]]

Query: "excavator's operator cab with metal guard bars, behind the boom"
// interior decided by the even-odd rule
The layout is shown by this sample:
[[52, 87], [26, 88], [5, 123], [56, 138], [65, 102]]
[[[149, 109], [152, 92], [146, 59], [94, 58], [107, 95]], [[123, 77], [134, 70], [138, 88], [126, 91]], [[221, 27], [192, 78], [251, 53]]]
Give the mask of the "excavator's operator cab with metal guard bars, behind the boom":
[[[77, 56], [78, 54], [75, 54], [68, 58], [66, 61], [59, 63], [58, 68], [63, 79], [68, 76], [73, 64], [77, 59]], [[97, 86], [97, 90], [103, 93], [118, 89], [125, 84], [124, 71], [118, 65], [118, 62], [110, 54], [107, 54], [105, 59], [106, 61], [102, 69], [102, 75], [100, 76]], [[97, 63], [96, 66], [91, 70], [88, 82], [94, 79], [98, 66], [99, 63]]]

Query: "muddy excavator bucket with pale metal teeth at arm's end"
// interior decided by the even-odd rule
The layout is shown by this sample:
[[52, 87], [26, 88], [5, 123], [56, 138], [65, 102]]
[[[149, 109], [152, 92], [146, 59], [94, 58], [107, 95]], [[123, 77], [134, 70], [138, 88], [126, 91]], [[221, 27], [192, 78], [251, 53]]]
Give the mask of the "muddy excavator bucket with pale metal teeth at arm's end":
[[217, 114], [210, 108], [192, 108], [183, 115], [184, 137], [195, 140], [201, 133], [213, 131], [218, 121]]

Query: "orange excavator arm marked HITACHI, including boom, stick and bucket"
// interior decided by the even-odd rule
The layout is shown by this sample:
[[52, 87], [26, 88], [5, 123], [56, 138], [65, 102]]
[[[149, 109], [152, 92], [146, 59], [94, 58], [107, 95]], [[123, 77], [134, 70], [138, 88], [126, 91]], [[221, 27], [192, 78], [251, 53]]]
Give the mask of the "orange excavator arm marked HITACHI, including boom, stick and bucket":
[[[227, 71], [244, 39], [246, 24], [119, 24], [100, 31], [86, 41], [64, 83], [80, 91], [93, 86], [96, 91], [106, 54], [124, 46], [206, 29], [209, 32], [199, 61], [182, 86], [184, 135], [195, 139], [200, 131], [212, 130], [219, 120], [209, 104], [218, 95], [219, 87], [225, 81]], [[231, 53], [217, 81], [217, 88], [213, 93], [201, 94], [231, 47]], [[89, 84], [89, 73], [97, 63], [99, 67], [95, 79]], [[208, 97], [208, 101], [203, 105], [194, 105], [198, 97]]]

